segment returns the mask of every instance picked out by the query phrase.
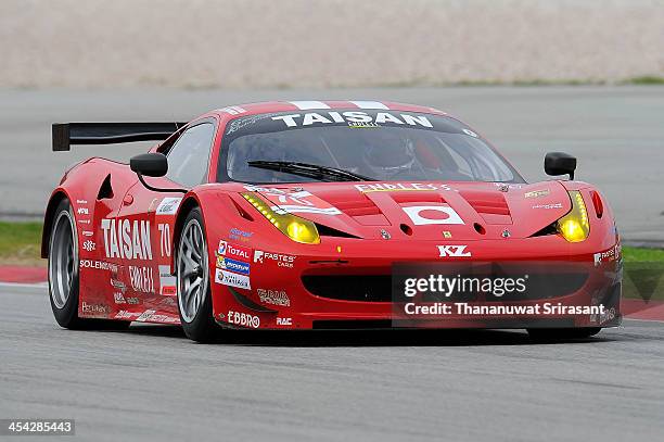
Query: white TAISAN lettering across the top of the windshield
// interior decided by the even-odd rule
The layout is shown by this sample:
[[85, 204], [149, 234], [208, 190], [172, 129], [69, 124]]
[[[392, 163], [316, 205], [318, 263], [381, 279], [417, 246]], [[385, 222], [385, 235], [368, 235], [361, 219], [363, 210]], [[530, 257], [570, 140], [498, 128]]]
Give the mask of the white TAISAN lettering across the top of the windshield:
[[311, 126], [314, 124], [339, 124], [354, 125], [381, 125], [385, 123], [422, 126], [432, 128], [433, 125], [425, 115], [413, 115], [406, 113], [376, 112], [375, 117], [361, 111], [346, 112], [307, 112], [304, 114], [289, 114], [272, 116], [273, 121], [281, 121], [285, 127]]

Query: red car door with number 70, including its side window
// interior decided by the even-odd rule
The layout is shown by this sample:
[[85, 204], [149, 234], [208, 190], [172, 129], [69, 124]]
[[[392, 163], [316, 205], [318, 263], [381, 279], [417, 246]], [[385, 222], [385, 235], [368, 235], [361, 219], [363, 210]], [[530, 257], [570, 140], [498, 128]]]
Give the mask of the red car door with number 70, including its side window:
[[144, 320], [154, 311], [177, 315], [176, 277], [170, 275], [171, 236], [183, 193], [173, 189], [189, 190], [207, 181], [215, 131], [212, 121], [192, 124], [167, 148], [166, 176], [145, 178], [163, 191], [137, 181], [123, 200], [118, 220], [126, 236], [126, 285], [146, 312]]

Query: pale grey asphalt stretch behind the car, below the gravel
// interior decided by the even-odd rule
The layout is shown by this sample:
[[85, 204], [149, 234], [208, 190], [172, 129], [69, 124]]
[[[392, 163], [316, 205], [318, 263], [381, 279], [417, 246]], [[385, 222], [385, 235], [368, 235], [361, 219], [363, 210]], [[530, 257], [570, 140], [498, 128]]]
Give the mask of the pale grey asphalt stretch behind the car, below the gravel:
[[189, 121], [264, 100], [378, 99], [432, 105], [475, 127], [529, 181], [548, 151], [578, 157], [577, 179], [613, 206], [623, 238], [664, 244], [664, 87], [471, 87], [330, 90], [0, 90], [0, 217], [40, 216], [65, 168], [100, 155], [127, 161], [144, 146], [53, 153], [51, 124]]

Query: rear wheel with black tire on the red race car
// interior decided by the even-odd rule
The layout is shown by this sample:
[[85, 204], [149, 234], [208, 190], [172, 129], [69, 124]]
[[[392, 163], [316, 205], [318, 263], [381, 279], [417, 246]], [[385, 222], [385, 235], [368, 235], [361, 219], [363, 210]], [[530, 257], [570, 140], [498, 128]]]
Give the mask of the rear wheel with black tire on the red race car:
[[72, 205], [67, 199], [63, 199], [58, 204], [53, 216], [49, 236], [48, 276], [51, 310], [61, 327], [114, 330], [129, 327], [130, 323], [123, 320], [78, 317], [78, 233]]

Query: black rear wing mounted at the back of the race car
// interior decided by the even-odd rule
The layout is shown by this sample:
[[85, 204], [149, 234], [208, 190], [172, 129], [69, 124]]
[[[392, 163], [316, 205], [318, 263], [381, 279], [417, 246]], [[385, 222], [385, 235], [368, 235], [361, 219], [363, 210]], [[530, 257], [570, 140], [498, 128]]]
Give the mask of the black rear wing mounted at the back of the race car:
[[72, 144], [115, 144], [161, 141], [187, 123], [58, 123], [53, 125], [53, 152], [68, 151]]

